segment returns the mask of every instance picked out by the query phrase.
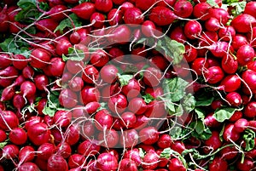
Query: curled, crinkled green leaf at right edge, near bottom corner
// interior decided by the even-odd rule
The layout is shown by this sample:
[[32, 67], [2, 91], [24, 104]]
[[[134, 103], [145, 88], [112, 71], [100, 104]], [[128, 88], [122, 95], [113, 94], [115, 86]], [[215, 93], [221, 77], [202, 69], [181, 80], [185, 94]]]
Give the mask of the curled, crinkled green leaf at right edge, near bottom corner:
[[243, 135], [242, 135], [243, 140], [246, 142], [246, 147], [245, 151], [251, 151], [253, 150], [255, 146], [255, 132], [252, 129], [247, 128]]

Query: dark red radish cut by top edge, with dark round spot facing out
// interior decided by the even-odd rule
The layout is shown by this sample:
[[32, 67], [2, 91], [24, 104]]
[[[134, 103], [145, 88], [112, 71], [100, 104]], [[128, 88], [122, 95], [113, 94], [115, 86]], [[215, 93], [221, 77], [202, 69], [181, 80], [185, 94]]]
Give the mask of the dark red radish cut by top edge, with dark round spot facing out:
[[174, 6], [174, 14], [178, 17], [189, 18], [189, 16], [193, 13], [193, 6], [187, 0], [177, 1]]

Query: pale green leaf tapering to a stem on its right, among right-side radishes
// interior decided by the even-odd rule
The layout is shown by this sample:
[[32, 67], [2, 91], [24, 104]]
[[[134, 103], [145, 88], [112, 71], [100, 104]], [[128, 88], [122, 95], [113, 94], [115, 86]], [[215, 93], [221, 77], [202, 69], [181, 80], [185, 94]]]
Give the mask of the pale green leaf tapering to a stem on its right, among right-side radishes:
[[232, 107], [220, 108], [214, 112], [213, 117], [219, 123], [223, 123], [225, 120], [229, 120], [230, 117], [232, 117], [232, 115], [235, 113], [235, 111], [237, 111], [237, 109]]

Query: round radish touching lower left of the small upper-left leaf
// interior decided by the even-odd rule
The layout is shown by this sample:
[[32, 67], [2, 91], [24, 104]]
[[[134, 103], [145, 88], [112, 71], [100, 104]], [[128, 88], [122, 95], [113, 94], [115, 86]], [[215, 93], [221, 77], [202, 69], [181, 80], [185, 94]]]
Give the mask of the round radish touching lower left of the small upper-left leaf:
[[65, 69], [66, 63], [58, 57], [51, 58], [49, 60], [49, 63], [50, 65], [47, 68], [49, 69], [51, 76], [61, 77]]

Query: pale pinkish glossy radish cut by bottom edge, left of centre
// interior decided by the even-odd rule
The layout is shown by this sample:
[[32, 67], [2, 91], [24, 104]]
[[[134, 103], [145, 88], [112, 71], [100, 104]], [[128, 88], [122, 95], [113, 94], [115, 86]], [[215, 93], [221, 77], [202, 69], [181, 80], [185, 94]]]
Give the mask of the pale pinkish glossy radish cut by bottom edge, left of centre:
[[100, 170], [115, 171], [118, 165], [117, 159], [110, 153], [103, 152], [97, 157], [96, 167]]

